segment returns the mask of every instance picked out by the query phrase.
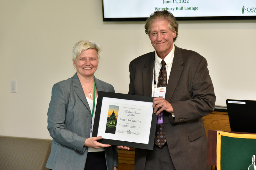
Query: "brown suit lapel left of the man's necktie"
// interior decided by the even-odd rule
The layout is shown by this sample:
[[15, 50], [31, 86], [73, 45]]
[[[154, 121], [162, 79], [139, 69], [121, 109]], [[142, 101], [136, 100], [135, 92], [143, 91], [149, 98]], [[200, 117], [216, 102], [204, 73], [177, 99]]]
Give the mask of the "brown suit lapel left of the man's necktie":
[[149, 54], [148, 60], [144, 64], [145, 68], [142, 70], [144, 96], [152, 95], [154, 57], [155, 57], [155, 52], [152, 52]]

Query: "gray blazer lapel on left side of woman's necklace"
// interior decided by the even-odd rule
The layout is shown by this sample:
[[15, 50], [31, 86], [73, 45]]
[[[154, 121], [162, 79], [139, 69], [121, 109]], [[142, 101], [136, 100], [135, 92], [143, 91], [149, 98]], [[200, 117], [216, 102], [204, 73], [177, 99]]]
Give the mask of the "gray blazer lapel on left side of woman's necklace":
[[72, 77], [72, 83], [73, 83], [73, 87], [74, 87], [74, 91], [76, 92], [77, 96], [82, 100], [82, 102], [84, 103], [84, 105], [86, 106], [86, 108], [92, 113], [92, 111], [90, 110], [90, 106], [86, 100], [86, 97], [84, 95], [84, 90], [81, 86], [81, 83], [78, 79], [77, 74], [75, 74]]

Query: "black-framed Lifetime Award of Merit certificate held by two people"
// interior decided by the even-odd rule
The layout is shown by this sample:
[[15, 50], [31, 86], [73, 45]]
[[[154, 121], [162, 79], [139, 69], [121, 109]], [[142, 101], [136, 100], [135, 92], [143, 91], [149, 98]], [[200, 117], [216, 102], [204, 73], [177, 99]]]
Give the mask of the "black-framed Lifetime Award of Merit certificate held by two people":
[[153, 150], [153, 97], [99, 91], [92, 137], [103, 144]]

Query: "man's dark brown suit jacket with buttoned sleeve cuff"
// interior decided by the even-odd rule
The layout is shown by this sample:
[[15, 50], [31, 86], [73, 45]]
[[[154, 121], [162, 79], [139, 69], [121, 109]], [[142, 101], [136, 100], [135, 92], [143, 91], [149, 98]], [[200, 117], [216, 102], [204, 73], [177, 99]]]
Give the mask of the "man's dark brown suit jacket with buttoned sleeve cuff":
[[[129, 94], [151, 96], [155, 52], [131, 61]], [[157, 80], [156, 80], [157, 81]], [[202, 117], [214, 110], [215, 95], [207, 61], [200, 54], [175, 46], [165, 100], [175, 118], [164, 112], [166, 143], [176, 170], [209, 169]], [[135, 169], [145, 169], [147, 150], [136, 149]]]

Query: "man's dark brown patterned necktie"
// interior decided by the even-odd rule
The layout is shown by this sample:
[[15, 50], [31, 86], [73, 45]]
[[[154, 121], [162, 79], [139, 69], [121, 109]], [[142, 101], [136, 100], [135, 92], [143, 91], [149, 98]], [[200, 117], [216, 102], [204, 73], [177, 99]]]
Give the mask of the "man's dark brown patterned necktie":
[[[161, 61], [162, 67], [159, 72], [159, 77], [158, 77], [158, 83], [157, 87], [166, 87], [167, 83], [167, 73], [166, 73], [166, 68], [165, 65], [166, 63], [164, 60]], [[163, 118], [163, 113], [160, 113], [158, 115], [158, 119]], [[156, 125], [156, 136], [155, 136], [155, 144], [159, 146], [160, 148], [166, 143], [165, 139], [165, 134], [164, 134], [164, 126], [163, 124], [157, 124]]]

